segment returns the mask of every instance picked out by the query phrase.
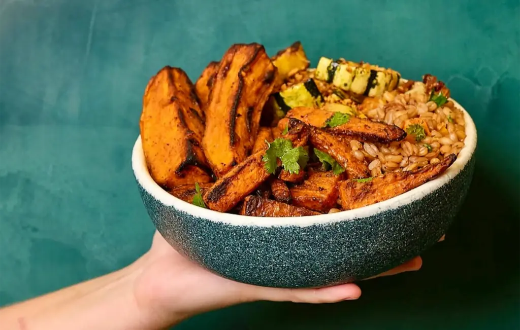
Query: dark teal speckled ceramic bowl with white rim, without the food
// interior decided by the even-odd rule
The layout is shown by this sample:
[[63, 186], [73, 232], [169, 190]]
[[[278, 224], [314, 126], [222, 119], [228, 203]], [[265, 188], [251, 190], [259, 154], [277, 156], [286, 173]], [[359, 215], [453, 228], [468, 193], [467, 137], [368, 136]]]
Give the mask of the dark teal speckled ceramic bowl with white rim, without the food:
[[473, 175], [477, 134], [466, 112], [465, 120], [465, 147], [443, 175], [392, 199], [332, 214], [262, 218], [196, 207], [152, 180], [140, 137], [132, 166], [155, 227], [201, 266], [256, 285], [328, 286], [398, 266], [443, 236]]

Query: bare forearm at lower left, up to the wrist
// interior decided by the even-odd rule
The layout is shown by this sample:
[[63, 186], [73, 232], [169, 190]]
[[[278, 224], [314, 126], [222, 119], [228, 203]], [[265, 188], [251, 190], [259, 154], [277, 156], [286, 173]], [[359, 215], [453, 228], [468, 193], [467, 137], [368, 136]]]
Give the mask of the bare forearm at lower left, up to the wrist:
[[119, 271], [0, 310], [0, 328], [21, 330], [160, 329], [139, 306], [139, 261]]

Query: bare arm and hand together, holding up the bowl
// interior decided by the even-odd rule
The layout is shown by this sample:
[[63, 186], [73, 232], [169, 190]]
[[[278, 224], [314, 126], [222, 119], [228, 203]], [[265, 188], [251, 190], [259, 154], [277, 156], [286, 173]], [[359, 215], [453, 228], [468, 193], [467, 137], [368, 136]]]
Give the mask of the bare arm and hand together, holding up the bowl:
[[[421, 265], [416, 257], [380, 276], [418, 270]], [[156, 232], [150, 250], [123, 269], [0, 309], [0, 328], [159, 330], [243, 302], [319, 304], [355, 300], [360, 295], [353, 283], [284, 289], [227, 280], [185, 259]]]

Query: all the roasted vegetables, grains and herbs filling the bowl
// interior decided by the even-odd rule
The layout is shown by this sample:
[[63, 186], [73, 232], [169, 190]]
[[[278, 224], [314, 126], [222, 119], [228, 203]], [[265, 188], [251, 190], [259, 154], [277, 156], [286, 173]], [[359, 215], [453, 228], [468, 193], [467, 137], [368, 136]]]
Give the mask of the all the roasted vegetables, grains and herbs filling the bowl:
[[142, 150], [171, 195], [218, 212], [311, 216], [398, 196], [444, 173], [464, 113], [432, 75], [232, 45], [196, 84], [165, 66], [145, 90]]

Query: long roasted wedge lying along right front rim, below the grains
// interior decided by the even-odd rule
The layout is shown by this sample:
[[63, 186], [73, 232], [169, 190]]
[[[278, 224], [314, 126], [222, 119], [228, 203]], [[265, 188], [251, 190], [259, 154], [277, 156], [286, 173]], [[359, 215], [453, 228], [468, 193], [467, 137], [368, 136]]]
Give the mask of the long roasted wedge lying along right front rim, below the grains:
[[443, 161], [417, 171], [388, 172], [361, 182], [342, 181], [339, 184], [341, 206], [344, 210], [352, 210], [404, 194], [446, 171], [456, 159], [457, 156], [451, 154]]

